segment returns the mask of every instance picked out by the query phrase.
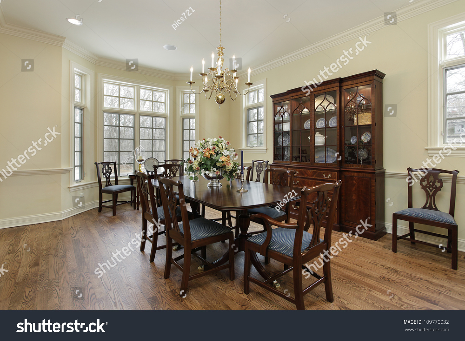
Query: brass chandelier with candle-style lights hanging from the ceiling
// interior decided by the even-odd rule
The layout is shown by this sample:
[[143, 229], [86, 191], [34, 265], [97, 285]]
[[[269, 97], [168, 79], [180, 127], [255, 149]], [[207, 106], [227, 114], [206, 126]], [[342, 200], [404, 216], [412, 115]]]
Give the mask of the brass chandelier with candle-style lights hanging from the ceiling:
[[[208, 68], [210, 72], [205, 73], [205, 59], [202, 59], [202, 73], [199, 73], [199, 75], [202, 77], [203, 89], [200, 92], [194, 92], [192, 89], [192, 85], [195, 84], [195, 82], [192, 81], [192, 66], [191, 80], [187, 83], [191, 85], [191, 91], [196, 95], [205, 92], [206, 99], [212, 98], [212, 94], [214, 92], [215, 101], [219, 104], [219, 108], [221, 108], [221, 105], [226, 100], [226, 93], [229, 93], [229, 97], [231, 98], [231, 100], [234, 101], [236, 100], [238, 94], [241, 96], [245, 96], [250, 90], [250, 85], [253, 85], [253, 83], [250, 83], [250, 67], [248, 70], [248, 81], [246, 83], [247, 91], [245, 93], [240, 93], [237, 87], [239, 83], [239, 77], [236, 76], [238, 70], [228, 70], [227, 67], [223, 69], [224, 47], [221, 45], [221, 0], [219, 0], [219, 46], [216, 49], [218, 50], [218, 59], [216, 61], [216, 67], [214, 67], [215, 55], [212, 52], [212, 67]], [[233, 67], [235, 66], [234, 62], [235, 56], [233, 56]], [[210, 92], [210, 94], [207, 97], [208, 92]], [[235, 94], [234, 98], [231, 92]]]

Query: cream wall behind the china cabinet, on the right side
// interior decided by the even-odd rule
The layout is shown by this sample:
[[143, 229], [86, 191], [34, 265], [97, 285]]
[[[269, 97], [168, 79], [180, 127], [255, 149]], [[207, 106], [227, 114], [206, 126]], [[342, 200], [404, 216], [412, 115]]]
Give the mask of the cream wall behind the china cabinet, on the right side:
[[[457, 1], [436, 10], [398, 22], [397, 26], [385, 26], [383, 29], [370, 33], [368, 44], [359, 55], [343, 66], [330, 78], [346, 77], [349, 75], [379, 69], [386, 74], [383, 82], [384, 104], [397, 104], [397, 117], [384, 118], [384, 168], [387, 171], [385, 180], [385, 198], [391, 201], [385, 205], [385, 221], [388, 231], [391, 231], [392, 213], [407, 207], [407, 183], [405, 178], [393, 178], [389, 172], [405, 172], [407, 167], [421, 167], [428, 157], [427, 146], [427, 25], [429, 23], [451, 17], [464, 11], [463, 1]], [[365, 35], [362, 36], [362, 38]], [[252, 159], [272, 160], [272, 94], [285, 92], [305, 85], [317, 77], [319, 70], [329, 67], [339, 56], [353, 47], [359, 39], [340, 44], [322, 52], [315, 53], [303, 59], [274, 68], [270, 71], [254, 74], [252, 83], [259, 79], [267, 80], [267, 144], [266, 154], [244, 154], [244, 160]], [[317, 78], [318, 79], [318, 78]], [[230, 127], [232, 143], [240, 146], [242, 141], [242, 123], [240, 104], [234, 102], [231, 106]], [[462, 171], [465, 176], [464, 157], [446, 157], [438, 168]], [[415, 188], [415, 187], [414, 187]], [[449, 197], [447, 193], [450, 183], [446, 183], [443, 195], [439, 198], [439, 208], [448, 211]], [[415, 194], [420, 200], [416, 203], [420, 207], [424, 204], [424, 193], [417, 185]], [[393, 203], [392, 206], [390, 204]], [[465, 185], [458, 184], [456, 220], [459, 226], [458, 237], [462, 239], [461, 248], [465, 249]], [[418, 207], [418, 206], [417, 206]], [[404, 222], [400, 225], [408, 226]], [[444, 230], [438, 229], [438, 232]]]

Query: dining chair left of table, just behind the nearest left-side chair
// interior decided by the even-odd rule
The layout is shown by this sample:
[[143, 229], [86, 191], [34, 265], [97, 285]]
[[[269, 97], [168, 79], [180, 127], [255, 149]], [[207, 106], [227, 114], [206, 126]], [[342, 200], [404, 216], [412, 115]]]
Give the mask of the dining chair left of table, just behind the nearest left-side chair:
[[[166, 249], [166, 245], [158, 246], [158, 236], [166, 233], [166, 221], [163, 208], [156, 205], [155, 191], [152, 184], [152, 180], [155, 178], [156, 175], [154, 173], [136, 172], [137, 191], [139, 192], [142, 207], [142, 241], [140, 243], [140, 251], [144, 251], [146, 241], [152, 244], [149, 262], [155, 260], [157, 250]], [[180, 210], [176, 211], [176, 218], [181, 218]], [[147, 235], [147, 222], [152, 223], [153, 234], [151, 236]]]

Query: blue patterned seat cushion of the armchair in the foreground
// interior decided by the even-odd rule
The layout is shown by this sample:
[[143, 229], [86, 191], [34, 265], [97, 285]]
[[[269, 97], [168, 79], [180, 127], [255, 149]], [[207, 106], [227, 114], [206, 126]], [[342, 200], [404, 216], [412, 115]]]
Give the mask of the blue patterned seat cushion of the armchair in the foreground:
[[[295, 229], [284, 229], [282, 227], [273, 229], [268, 249], [292, 257], [294, 252], [295, 231]], [[251, 236], [248, 240], [249, 242], [255, 243], [257, 245], [262, 245], [263, 243], [265, 243], [266, 233], [267, 232], [263, 232], [255, 236]], [[306, 247], [308, 247], [308, 244], [310, 244], [311, 240], [312, 235], [304, 231], [304, 234], [302, 236], [302, 251], [304, 251]], [[320, 239], [320, 242], [323, 242], [323, 240]]]

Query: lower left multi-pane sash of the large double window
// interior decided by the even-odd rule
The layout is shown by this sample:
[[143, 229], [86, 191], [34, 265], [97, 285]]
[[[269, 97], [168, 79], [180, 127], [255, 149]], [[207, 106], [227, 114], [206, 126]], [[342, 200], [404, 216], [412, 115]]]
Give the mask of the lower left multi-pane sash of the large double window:
[[134, 171], [134, 115], [105, 112], [104, 161], [116, 161], [118, 175]]

